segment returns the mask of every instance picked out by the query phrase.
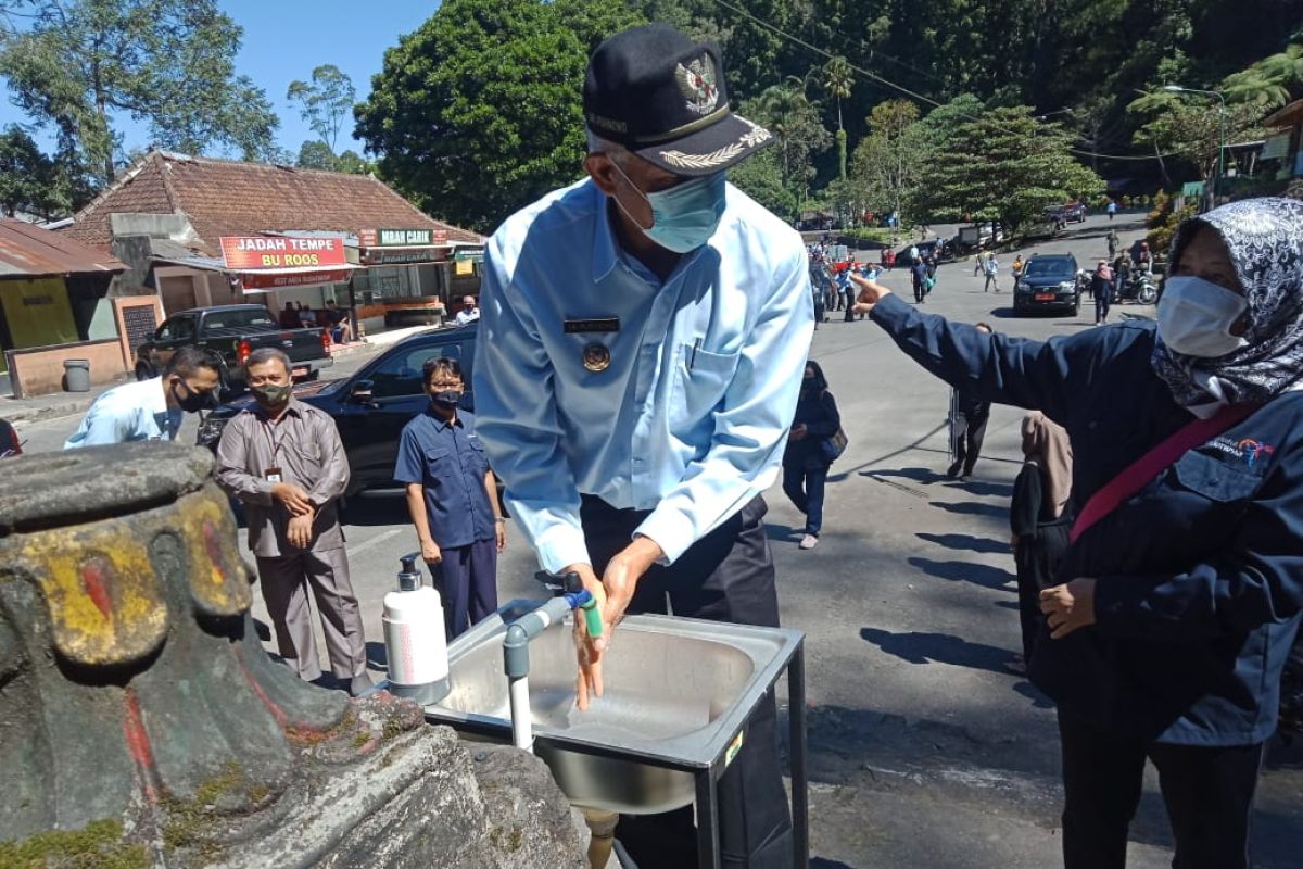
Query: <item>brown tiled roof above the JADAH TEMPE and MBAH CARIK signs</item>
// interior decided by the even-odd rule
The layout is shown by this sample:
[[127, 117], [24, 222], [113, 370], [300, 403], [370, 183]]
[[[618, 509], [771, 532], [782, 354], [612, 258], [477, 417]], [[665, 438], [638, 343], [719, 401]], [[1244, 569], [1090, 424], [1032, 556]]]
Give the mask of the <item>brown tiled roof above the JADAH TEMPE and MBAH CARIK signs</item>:
[[450, 241], [482, 244], [466, 229], [422, 214], [410, 202], [362, 175], [296, 169], [150, 151], [63, 229], [87, 245], [108, 248], [108, 215], [184, 212], [210, 251], [222, 236], [321, 229], [442, 229]]

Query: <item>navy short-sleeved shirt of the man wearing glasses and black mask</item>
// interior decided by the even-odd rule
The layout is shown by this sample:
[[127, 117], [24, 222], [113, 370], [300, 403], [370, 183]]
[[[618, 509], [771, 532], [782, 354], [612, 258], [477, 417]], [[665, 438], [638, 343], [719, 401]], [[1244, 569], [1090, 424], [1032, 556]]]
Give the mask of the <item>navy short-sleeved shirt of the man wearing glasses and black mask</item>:
[[486, 473], [489, 459], [476, 434], [476, 418], [465, 410], [457, 410], [455, 425], [426, 410], [403, 429], [394, 479], [425, 489], [430, 537], [439, 548], [494, 539]]

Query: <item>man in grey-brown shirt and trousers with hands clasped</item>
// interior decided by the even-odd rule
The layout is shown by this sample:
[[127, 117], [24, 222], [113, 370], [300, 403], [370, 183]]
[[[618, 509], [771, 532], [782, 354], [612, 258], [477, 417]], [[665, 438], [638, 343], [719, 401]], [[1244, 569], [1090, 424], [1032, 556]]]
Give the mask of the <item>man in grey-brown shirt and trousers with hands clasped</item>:
[[336, 511], [348, 487], [348, 457], [330, 414], [294, 399], [289, 369], [279, 349], [249, 354], [245, 379], [254, 406], [222, 433], [218, 485], [244, 504], [249, 551], [258, 560], [280, 657], [305, 681], [322, 675], [308, 605], [311, 589], [331, 670], [357, 697], [371, 677]]

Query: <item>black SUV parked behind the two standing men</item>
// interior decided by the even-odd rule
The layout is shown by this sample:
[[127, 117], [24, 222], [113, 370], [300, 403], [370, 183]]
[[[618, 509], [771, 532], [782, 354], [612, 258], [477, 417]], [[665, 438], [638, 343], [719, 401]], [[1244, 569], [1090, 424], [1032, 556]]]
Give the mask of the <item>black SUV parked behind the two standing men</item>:
[[[446, 356], [461, 363], [466, 382], [461, 406], [474, 410], [470, 374], [477, 334], [476, 323], [420, 332], [403, 339], [351, 378], [294, 384], [296, 399], [331, 414], [339, 427], [352, 472], [347, 495], [399, 486], [394, 482], [399, 435], [430, 404], [421, 383], [426, 360]], [[199, 446], [216, 449], [227, 422], [251, 404], [253, 399], [245, 396], [210, 413], [199, 426]]]

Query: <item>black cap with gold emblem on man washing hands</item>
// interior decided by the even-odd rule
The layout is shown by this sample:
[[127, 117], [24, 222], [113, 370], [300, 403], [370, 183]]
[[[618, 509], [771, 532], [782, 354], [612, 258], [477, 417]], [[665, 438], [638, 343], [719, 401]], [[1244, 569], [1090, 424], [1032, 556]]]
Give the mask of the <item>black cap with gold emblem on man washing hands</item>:
[[666, 23], [603, 40], [588, 61], [584, 119], [593, 133], [681, 176], [713, 175], [773, 142], [728, 108], [719, 47]]

